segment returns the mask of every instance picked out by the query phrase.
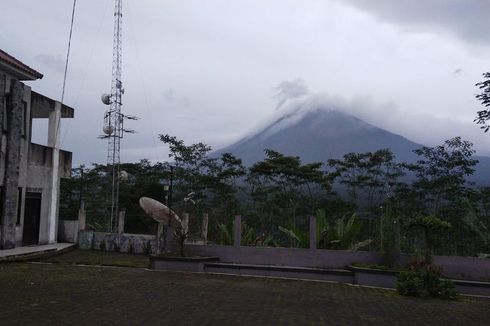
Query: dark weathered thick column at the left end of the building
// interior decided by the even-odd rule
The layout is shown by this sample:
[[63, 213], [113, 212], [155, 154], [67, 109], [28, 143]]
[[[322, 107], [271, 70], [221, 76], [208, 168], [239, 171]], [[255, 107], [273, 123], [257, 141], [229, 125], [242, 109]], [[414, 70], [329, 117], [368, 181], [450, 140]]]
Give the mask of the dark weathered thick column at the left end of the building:
[[17, 195], [19, 187], [20, 141], [24, 104], [24, 85], [12, 79], [7, 102], [7, 153], [2, 198], [2, 243], [3, 249], [15, 247], [15, 224], [17, 221]]

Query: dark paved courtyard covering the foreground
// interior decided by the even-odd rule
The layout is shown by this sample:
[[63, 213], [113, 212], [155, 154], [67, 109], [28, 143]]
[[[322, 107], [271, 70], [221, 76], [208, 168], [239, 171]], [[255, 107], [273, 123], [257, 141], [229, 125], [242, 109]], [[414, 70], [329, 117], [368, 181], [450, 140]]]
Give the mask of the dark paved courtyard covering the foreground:
[[[68, 257], [80, 256], [77, 252], [71, 255]], [[78, 266], [63, 259], [56, 263], [0, 264], [0, 302], [2, 325], [490, 322], [488, 299], [422, 300], [400, 297], [393, 291], [333, 283]]]

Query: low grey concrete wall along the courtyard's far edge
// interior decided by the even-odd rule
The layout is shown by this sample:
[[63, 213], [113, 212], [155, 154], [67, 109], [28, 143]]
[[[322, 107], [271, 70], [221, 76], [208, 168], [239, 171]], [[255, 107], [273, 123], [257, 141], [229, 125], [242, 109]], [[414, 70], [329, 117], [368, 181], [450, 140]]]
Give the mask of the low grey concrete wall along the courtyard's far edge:
[[[105, 241], [106, 250], [113, 251], [114, 244], [122, 252], [128, 252], [131, 244], [134, 253], [143, 253], [148, 241], [155, 252], [154, 235], [144, 234], [113, 234], [94, 232], [92, 248], [99, 250]], [[235, 247], [221, 245], [187, 244], [189, 255], [219, 257], [223, 263], [278, 265], [294, 267], [312, 267], [327, 269], [344, 269], [354, 263], [380, 264], [381, 254], [369, 251]], [[406, 264], [409, 256], [401, 254], [398, 264]], [[434, 265], [440, 267], [445, 276], [453, 279], [490, 281], [490, 259], [459, 256], [434, 256]]]

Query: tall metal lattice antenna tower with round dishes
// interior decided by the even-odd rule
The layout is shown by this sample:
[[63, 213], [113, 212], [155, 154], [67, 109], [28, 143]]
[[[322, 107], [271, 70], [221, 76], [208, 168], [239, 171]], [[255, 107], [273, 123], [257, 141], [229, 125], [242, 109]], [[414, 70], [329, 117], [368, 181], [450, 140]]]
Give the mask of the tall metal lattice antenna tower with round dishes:
[[136, 120], [134, 116], [121, 112], [122, 95], [124, 94], [122, 73], [122, 0], [115, 0], [114, 8], [114, 38], [112, 48], [112, 83], [111, 93], [102, 94], [102, 102], [110, 108], [104, 114], [104, 135], [99, 138], [107, 139], [107, 167], [112, 172], [110, 231], [117, 228], [119, 217], [119, 181], [121, 163], [121, 139], [124, 133], [134, 133], [134, 130], [124, 129], [124, 120]]

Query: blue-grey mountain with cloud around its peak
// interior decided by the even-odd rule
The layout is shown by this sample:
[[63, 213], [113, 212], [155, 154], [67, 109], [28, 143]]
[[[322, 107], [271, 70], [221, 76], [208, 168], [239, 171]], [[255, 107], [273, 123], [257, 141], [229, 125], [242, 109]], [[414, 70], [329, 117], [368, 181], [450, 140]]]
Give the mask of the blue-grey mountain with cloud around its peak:
[[349, 152], [390, 148], [399, 159], [413, 161], [421, 145], [334, 109], [296, 110], [273, 120], [259, 132], [224, 148], [246, 165], [264, 159], [264, 149], [299, 156], [304, 162], [326, 162]]

